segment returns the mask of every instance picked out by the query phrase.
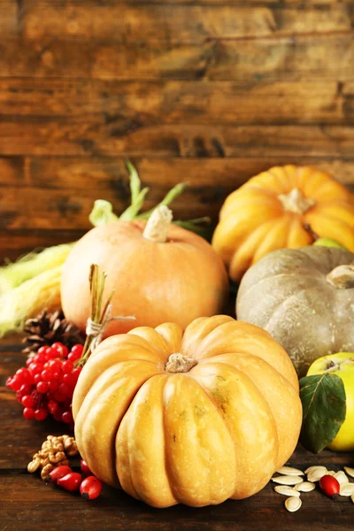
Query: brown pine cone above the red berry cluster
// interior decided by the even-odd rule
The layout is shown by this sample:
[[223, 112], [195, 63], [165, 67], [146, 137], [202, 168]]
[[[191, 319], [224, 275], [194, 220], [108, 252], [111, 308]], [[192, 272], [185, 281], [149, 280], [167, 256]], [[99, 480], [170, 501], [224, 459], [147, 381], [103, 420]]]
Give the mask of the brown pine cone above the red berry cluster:
[[23, 350], [25, 354], [53, 342], [62, 342], [69, 350], [74, 344], [83, 342], [79, 330], [59, 310], [53, 313], [43, 310], [34, 319], [27, 319], [23, 329], [27, 333], [22, 340], [27, 345]]

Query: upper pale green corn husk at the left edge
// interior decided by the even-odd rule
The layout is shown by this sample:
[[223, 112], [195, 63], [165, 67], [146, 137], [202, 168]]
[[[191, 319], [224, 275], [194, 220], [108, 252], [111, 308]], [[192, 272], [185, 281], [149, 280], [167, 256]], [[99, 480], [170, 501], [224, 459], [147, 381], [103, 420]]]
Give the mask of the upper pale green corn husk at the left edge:
[[17, 288], [22, 282], [44, 271], [61, 266], [72, 249], [73, 243], [63, 243], [40, 252], [34, 250], [16, 262], [8, 262], [6, 266], [0, 267], [0, 294]]

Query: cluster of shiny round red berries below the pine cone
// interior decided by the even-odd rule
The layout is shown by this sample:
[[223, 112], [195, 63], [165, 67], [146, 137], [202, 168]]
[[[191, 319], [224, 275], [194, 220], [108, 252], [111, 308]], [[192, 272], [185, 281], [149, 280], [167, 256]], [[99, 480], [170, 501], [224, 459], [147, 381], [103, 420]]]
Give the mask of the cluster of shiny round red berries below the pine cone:
[[16, 391], [24, 406], [25, 419], [44, 420], [51, 414], [54, 419], [73, 426], [72, 398], [81, 373], [74, 362], [81, 358], [80, 344], [68, 349], [61, 342], [41, 347], [37, 354], [27, 358], [27, 367], [21, 367], [6, 381]]

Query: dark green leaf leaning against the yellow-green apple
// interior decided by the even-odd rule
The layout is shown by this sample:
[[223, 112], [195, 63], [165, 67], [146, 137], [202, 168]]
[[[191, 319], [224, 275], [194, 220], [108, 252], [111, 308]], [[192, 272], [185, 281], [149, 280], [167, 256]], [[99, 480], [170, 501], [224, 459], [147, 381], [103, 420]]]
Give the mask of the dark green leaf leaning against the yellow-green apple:
[[326, 448], [335, 439], [345, 420], [345, 389], [342, 378], [325, 373], [300, 380], [303, 403], [303, 427], [300, 442], [313, 453]]

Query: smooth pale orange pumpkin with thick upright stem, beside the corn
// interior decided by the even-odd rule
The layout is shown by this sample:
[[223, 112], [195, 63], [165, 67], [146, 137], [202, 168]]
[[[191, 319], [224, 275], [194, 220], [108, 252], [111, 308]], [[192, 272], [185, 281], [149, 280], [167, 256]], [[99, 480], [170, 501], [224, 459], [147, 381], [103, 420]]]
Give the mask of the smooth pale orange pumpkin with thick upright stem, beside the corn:
[[90, 314], [89, 268], [107, 273], [105, 298], [114, 290], [112, 320], [105, 335], [169, 320], [187, 327], [197, 317], [222, 312], [228, 280], [210, 243], [171, 225], [172, 212], [159, 207], [148, 221], [117, 221], [96, 227], [75, 244], [61, 282], [66, 319], [85, 330]]

